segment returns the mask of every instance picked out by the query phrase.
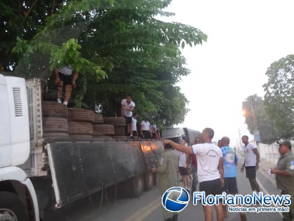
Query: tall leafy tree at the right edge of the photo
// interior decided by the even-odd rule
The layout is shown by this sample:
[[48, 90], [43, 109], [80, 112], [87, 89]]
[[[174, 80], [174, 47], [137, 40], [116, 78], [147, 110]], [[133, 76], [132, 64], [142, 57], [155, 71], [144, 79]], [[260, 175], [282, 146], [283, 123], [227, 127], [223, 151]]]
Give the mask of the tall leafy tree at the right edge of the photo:
[[270, 64], [266, 75], [268, 83], [263, 85], [266, 111], [281, 138], [294, 136], [294, 55], [282, 57]]

